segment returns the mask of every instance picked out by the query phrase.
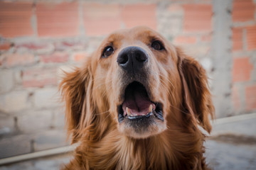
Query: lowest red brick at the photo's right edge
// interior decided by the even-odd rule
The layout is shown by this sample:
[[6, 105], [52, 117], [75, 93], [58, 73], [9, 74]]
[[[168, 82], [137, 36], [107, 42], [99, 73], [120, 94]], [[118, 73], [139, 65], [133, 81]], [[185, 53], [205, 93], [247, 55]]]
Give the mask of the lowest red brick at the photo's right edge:
[[252, 86], [247, 86], [245, 88], [246, 97], [246, 110], [253, 111], [256, 109], [256, 84]]

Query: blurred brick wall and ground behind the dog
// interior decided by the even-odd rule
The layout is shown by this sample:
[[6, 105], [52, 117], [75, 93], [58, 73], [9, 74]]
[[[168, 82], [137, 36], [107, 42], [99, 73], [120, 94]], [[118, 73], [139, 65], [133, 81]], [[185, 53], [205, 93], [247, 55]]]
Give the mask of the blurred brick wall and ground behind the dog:
[[0, 169], [68, 162], [59, 152], [4, 158], [68, 152], [62, 70], [79, 66], [113, 30], [134, 26], [158, 31], [208, 72], [217, 118], [206, 142], [210, 166], [256, 169], [255, 0], [0, 0]]

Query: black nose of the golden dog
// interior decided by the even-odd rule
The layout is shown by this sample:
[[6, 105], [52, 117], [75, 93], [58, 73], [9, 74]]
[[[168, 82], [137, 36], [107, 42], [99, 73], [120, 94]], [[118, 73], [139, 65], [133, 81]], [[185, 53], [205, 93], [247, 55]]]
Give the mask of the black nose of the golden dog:
[[119, 52], [117, 63], [122, 69], [134, 73], [142, 69], [148, 61], [148, 55], [141, 47], [126, 47]]

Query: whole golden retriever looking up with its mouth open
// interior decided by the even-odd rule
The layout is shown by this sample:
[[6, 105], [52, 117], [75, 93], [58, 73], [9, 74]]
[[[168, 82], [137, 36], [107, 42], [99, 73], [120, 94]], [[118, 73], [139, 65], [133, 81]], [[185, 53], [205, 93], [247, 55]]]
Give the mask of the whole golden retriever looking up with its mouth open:
[[208, 169], [206, 72], [146, 27], [118, 30], [60, 83], [74, 159], [63, 169]]

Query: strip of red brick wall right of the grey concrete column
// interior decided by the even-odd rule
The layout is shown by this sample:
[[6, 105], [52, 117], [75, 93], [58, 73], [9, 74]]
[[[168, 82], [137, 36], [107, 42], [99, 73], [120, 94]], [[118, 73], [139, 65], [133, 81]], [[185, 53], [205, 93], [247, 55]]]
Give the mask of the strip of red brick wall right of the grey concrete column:
[[232, 100], [235, 113], [256, 109], [256, 4], [234, 0], [232, 12]]

